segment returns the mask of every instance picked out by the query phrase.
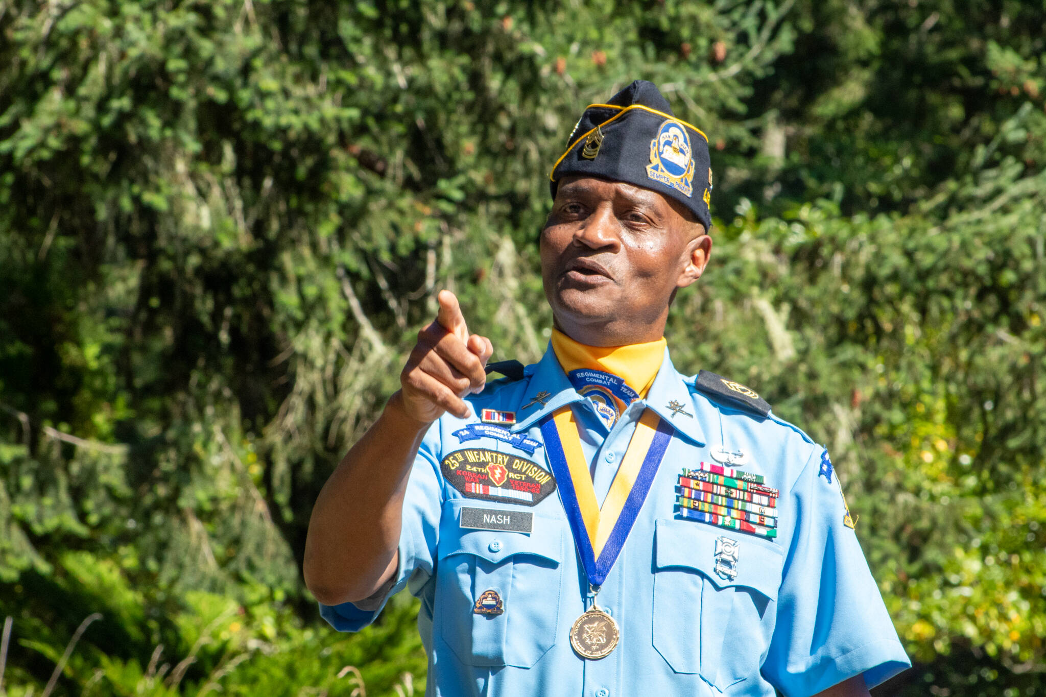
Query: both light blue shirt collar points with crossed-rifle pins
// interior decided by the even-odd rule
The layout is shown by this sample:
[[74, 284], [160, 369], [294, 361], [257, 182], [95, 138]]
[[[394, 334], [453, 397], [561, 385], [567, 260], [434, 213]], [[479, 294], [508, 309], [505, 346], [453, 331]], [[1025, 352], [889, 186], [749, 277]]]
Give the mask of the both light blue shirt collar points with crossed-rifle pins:
[[[535, 398], [547, 392], [548, 397], [542, 404], [541, 400]], [[564, 404], [570, 404], [584, 399], [570, 385], [567, 374], [563, 372], [552, 345], [549, 343], [545, 350], [545, 355], [535, 367], [530, 382], [523, 393], [523, 400], [516, 408], [517, 414], [523, 414], [522, 420], [517, 421], [510, 428], [513, 433], [519, 433], [531, 427], [548, 414], [560, 409]], [[668, 349], [664, 350], [664, 361], [658, 371], [654, 384], [644, 399], [646, 406], [654, 410], [665, 422], [670, 424], [676, 431], [683, 434], [690, 440], [704, 445], [705, 433], [698, 422], [698, 417], [693, 410], [693, 398], [690, 391], [683, 381], [683, 376], [679, 374], [668, 355]], [[531, 403], [532, 402], [532, 403]], [[531, 404], [527, 406], [527, 404]], [[672, 406], [681, 405], [682, 411], [674, 411]]]

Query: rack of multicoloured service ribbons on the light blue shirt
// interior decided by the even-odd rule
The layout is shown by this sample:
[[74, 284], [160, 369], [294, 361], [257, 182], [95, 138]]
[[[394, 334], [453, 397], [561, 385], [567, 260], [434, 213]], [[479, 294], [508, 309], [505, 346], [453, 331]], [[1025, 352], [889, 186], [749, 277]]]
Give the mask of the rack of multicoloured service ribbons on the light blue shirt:
[[761, 474], [702, 462], [684, 469], [676, 485], [676, 513], [720, 528], [777, 537], [779, 492]]

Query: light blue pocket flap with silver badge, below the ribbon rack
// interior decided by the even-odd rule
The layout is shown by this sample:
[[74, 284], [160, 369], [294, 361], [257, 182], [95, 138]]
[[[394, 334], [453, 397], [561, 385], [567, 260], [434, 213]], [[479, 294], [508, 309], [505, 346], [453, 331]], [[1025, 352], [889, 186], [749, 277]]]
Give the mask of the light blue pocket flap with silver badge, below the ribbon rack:
[[[719, 537], [737, 542], [736, 561], [723, 575], [715, 572], [715, 539]], [[744, 586], [759, 591], [770, 600], [777, 600], [784, 555], [782, 551], [770, 547], [773, 542], [700, 522], [666, 518], [655, 522], [655, 538], [656, 568], [689, 568], [719, 588]]]

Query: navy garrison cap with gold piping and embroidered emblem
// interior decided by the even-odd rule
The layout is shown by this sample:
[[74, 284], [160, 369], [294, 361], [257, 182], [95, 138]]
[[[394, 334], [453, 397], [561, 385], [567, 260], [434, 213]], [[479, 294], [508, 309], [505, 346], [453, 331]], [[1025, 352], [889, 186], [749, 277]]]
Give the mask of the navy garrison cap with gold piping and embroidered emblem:
[[601, 177], [675, 199], [711, 228], [708, 137], [672, 113], [653, 83], [637, 79], [605, 104], [589, 104], [552, 166], [552, 196], [567, 175]]

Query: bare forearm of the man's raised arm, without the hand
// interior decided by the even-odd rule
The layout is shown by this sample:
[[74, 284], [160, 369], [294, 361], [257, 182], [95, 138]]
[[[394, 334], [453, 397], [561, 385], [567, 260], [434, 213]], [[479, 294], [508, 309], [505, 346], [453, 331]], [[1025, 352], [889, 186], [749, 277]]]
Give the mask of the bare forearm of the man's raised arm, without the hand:
[[428, 425], [407, 415], [396, 393], [323, 485], [303, 564], [321, 603], [367, 598], [395, 573], [407, 479]]

